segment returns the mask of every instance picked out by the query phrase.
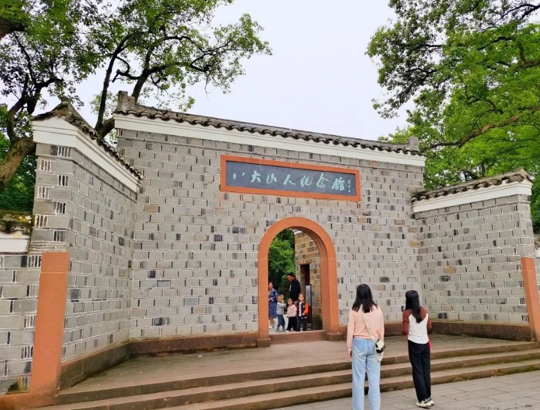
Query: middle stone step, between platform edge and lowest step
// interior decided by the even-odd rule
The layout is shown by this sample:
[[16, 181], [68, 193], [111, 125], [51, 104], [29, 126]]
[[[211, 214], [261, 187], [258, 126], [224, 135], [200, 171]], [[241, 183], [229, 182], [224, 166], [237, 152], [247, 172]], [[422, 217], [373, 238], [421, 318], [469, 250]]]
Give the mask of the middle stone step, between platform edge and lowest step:
[[[519, 364], [519, 362], [534, 362], [540, 360], [540, 349], [531, 351], [518, 351], [508, 353], [490, 353], [487, 355], [474, 355], [470, 357], [443, 358], [432, 360], [432, 372], [435, 380], [437, 377], [452, 377], [459, 375], [460, 378], [468, 378], [466, 374], [471, 368], [481, 364]], [[350, 367], [350, 363], [349, 367]], [[444, 373], [451, 369], [453, 372]], [[458, 371], [456, 369], [464, 369]], [[410, 380], [410, 365], [408, 363], [387, 364], [381, 369], [381, 389], [403, 389], [407, 386], [398, 384]], [[398, 378], [398, 380], [394, 380]], [[446, 379], [445, 379], [446, 380]], [[151, 410], [163, 407], [181, 406], [195, 402], [219, 401], [239, 398], [248, 395], [263, 395], [287, 390], [301, 390], [308, 387], [322, 386], [324, 389], [329, 385], [351, 382], [350, 369], [340, 371], [325, 371], [307, 375], [293, 375], [289, 377], [271, 378], [267, 380], [252, 380], [247, 382], [225, 383], [215, 386], [194, 387], [191, 389], [178, 389], [175, 391], [161, 391], [127, 397], [110, 398], [108, 400], [95, 400], [88, 402], [75, 402], [64, 404], [48, 409], [55, 410]], [[409, 383], [409, 384], [410, 384]]]

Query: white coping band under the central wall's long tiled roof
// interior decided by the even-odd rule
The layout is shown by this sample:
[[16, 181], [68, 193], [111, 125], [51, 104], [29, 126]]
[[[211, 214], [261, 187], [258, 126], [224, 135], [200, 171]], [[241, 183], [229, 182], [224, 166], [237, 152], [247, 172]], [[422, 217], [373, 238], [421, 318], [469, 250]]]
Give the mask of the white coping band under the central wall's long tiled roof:
[[411, 153], [378, 151], [362, 147], [354, 148], [351, 146], [327, 145], [312, 140], [282, 140], [275, 136], [262, 133], [204, 127], [204, 125], [201, 124], [179, 123], [166, 121], [162, 118], [141, 118], [132, 113], [115, 113], [113, 114], [113, 118], [117, 129], [126, 129], [128, 131], [162, 133], [170, 136], [230, 142], [239, 145], [254, 145], [255, 147], [264, 148], [288, 149], [289, 151], [318, 153], [321, 155], [389, 162], [392, 164], [415, 165], [417, 167], [424, 167], [425, 165], [425, 157], [412, 155]]

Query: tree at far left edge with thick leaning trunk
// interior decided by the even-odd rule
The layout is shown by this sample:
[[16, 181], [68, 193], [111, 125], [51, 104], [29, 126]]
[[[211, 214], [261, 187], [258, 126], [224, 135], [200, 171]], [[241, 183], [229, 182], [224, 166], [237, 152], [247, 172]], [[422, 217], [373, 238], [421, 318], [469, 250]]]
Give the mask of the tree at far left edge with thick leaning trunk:
[[[92, 3], [7, 0], [6, 5], [1, 14], [19, 16], [25, 30], [12, 30], [0, 43], [1, 94], [15, 100], [6, 116], [9, 147], [0, 164], [0, 192], [9, 185], [23, 159], [35, 152], [26, 124], [38, 104], [44, 102], [44, 93], [75, 94], [74, 84], [84, 80], [99, 62], [92, 44], [79, 38], [77, 32], [80, 25], [92, 26], [97, 21]], [[22, 12], [17, 14], [17, 8]]]

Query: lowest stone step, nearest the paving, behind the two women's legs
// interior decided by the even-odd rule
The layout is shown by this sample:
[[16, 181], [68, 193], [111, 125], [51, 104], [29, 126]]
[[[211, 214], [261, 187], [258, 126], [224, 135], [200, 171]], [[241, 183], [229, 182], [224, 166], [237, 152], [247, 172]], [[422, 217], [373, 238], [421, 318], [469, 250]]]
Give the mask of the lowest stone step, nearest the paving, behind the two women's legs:
[[[448, 382], [457, 382], [461, 380], [472, 380], [477, 378], [488, 378], [512, 373], [521, 373], [525, 371], [540, 370], [540, 360], [526, 360], [517, 363], [488, 364], [484, 366], [474, 366], [467, 369], [452, 369], [445, 371], [432, 372], [432, 384], [441, 384]], [[344, 373], [344, 372], [342, 372]], [[395, 376], [384, 378], [380, 382], [381, 391], [392, 391], [398, 389], [412, 388], [412, 378], [410, 375]], [[245, 389], [249, 389], [248, 384]], [[267, 410], [278, 407], [287, 407], [295, 404], [304, 404], [310, 402], [320, 402], [323, 400], [332, 400], [336, 398], [349, 397], [351, 395], [351, 383], [342, 382], [328, 384], [325, 386], [310, 386], [302, 389], [280, 390], [263, 394], [244, 395], [238, 398], [227, 398], [211, 402], [197, 402], [183, 405], [174, 405], [172, 402], [162, 403], [168, 410]], [[63, 406], [45, 407], [42, 410], [118, 410], [121, 407], [115, 407], [113, 400], [104, 400], [103, 403], [94, 407], [78, 407], [79, 404], [65, 404]], [[128, 407], [133, 410], [149, 409], [144, 404], [139, 407], [137, 402]], [[127, 407], [125, 407], [127, 408]]]

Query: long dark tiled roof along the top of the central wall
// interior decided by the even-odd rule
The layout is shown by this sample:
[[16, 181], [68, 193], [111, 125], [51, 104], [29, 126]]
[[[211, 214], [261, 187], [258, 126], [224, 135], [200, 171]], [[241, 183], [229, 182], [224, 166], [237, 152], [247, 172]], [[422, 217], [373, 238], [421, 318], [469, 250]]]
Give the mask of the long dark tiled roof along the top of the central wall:
[[374, 151], [389, 151], [396, 153], [408, 153], [413, 156], [423, 156], [418, 151], [418, 140], [416, 138], [407, 145], [389, 144], [372, 140], [358, 140], [356, 138], [347, 138], [332, 136], [322, 133], [312, 133], [308, 131], [299, 131], [282, 127], [271, 127], [269, 125], [253, 124], [251, 122], [223, 120], [221, 118], [205, 117], [202, 115], [193, 115], [187, 113], [177, 113], [153, 107], [135, 104], [133, 97], [129, 97], [125, 91], [118, 95], [118, 106], [115, 113], [133, 114], [137, 117], [161, 118], [162, 120], [173, 120], [176, 122], [187, 122], [195, 125], [200, 124], [204, 127], [224, 128], [238, 131], [248, 131], [250, 133], [269, 134], [271, 136], [280, 136], [282, 138], [293, 138], [295, 140], [306, 140], [314, 142], [323, 142], [325, 144], [343, 145], [345, 147], [354, 147], [362, 149], [372, 149]]

